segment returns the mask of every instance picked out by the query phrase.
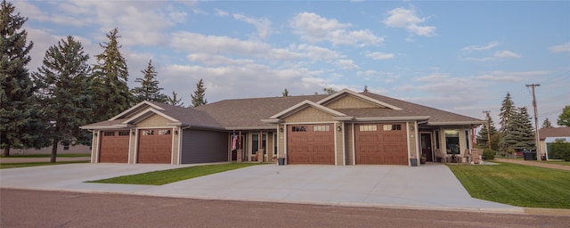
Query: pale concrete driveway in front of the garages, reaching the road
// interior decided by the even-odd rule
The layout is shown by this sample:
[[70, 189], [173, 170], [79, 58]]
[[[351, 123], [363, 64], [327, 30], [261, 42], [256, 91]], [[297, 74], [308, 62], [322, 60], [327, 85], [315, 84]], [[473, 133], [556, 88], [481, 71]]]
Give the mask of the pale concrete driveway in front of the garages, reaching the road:
[[84, 183], [186, 167], [69, 164], [0, 171], [2, 188], [116, 192], [198, 199], [237, 199], [330, 205], [436, 208], [522, 213], [523, 208], [473, 199], [448, 167], [261, 165], [161, 186]]

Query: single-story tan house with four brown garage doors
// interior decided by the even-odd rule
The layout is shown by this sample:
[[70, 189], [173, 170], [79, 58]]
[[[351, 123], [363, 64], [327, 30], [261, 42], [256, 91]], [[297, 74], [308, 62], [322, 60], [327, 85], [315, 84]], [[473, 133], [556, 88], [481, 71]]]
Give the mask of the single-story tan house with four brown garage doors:
[[140, 102], [93, 132], [92, 163], [410, 165], [474, 146], [485, 121], [371, 93], [232, 99], [194, 109]]

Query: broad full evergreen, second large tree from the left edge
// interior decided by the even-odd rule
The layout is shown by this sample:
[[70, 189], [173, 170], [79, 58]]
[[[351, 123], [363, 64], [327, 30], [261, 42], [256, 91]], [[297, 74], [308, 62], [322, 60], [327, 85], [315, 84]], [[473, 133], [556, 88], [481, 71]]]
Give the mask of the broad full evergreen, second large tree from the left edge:
[[60, 143], [91, 141], [91, 134], [79, 128], [91, 122], [88, 117], [93, 111], [92, 94], [85, 90], [91, 86], [88, 60], [83, 45], [69, 36], [47, 49], [44, 64], [33, 74], [39, 106], [51, 123], [45, 134], [52, 140], [50, 162], [56, 161]]

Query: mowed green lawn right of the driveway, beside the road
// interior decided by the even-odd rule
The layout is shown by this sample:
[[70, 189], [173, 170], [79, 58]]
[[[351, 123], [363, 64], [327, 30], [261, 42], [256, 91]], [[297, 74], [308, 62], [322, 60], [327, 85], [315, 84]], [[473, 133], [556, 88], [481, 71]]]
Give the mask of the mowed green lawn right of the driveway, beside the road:
[[570, 172], [509, 163], [448, 166], [469, 194], [526, 208], [570, 208]]

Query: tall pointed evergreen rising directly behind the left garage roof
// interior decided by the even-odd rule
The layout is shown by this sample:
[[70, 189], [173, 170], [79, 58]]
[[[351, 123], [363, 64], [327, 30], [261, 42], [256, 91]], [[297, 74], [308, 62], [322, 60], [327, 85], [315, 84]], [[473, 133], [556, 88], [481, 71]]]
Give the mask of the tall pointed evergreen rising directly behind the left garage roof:
[[109, 42], [99, 44], [104, 50], [95, 55], [94, 65], [94, 121], [112, 118], [126, 110], [131, 102], [131, 94], [126, 85], [128, 70], [126, 60], [120, 53], [118, 29], [107, 34]]

